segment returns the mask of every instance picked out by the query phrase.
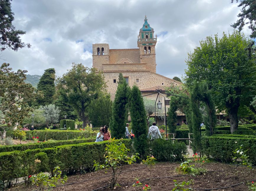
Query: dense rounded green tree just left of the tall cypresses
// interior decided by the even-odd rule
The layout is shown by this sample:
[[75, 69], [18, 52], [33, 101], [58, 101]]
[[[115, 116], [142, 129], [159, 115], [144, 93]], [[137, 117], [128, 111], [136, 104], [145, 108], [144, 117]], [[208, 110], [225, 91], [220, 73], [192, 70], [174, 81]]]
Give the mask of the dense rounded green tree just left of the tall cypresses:
[[112, 111], [112, 101], [110, 95], [102, 96], [92, 100], [89, 107], [89, 119], [94, 127], [109, 126]]

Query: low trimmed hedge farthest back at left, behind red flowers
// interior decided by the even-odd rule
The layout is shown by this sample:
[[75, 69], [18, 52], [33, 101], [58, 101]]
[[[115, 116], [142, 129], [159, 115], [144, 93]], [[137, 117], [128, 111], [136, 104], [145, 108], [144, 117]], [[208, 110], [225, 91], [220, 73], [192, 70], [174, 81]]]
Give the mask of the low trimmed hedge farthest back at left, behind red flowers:
[[[6, 137], [13, 137], [14, 131], [6, 131]], [[89, 138], [97, 135], [98, 132], [88, 132], [83, 130], [34, 130], [25, 131], [27, 133], [27, 139], [30, 137], [39, 137], [39, 140], [68, 140], [75, 138]]]

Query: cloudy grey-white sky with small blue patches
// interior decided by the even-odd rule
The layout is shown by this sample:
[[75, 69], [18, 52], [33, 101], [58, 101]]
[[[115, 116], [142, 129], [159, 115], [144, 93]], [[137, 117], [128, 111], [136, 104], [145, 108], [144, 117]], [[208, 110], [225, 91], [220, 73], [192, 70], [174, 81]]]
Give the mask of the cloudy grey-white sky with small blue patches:
[[[181, 77], [187, 53], [206, 36], [233, 31], [240, 9], [231, 0], [13, 0], [13, 25], [27, 33], [31, 48], [2, 52], [14, 70], [42, 75], [55, 68], [62, 76], [71, 63], [92, 67], [92, 44], [137, 48], [137, 35], [148, 22], [157, 34], [156, 73]], [[249, 29], [243, 31], [250, 34]]]

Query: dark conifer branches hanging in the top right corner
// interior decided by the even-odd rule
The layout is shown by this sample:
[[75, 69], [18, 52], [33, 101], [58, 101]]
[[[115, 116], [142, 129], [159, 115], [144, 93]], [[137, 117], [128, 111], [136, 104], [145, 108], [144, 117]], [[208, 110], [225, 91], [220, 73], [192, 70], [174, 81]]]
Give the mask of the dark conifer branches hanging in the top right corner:
[[[238, 0], [236, 0], [238, 2]], [[234, 0], [231, 0], [231, 3], [233, 3]], [[239, 13], [237, 16], [239, 19], [237, 22], [232, 24], [231, 26], [235, 29], [238, 27], [239, 31], [242, 31], [244, 28], [244, 25], [250, 24], [248, 26], [249, 29], [252, 30], [252, 33], [250, 35], [251, 38], [256, 37], [256, 1], [254, 0], [240, 0], [240, 4], [238, 7], [242, 7], [241, 13]], [[247, 20], [247, 22], [246, 22]]]

